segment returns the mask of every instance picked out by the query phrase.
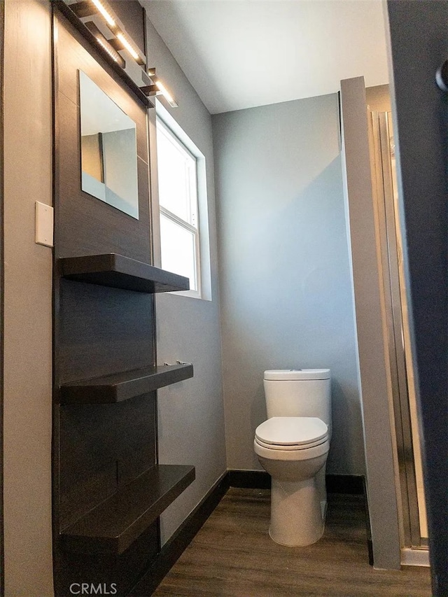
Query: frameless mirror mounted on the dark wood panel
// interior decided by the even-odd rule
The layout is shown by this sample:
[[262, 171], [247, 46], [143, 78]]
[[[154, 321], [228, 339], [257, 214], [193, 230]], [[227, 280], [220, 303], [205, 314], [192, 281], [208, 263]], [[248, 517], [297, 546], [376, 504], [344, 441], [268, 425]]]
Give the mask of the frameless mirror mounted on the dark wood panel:
[[139, 219], [137, 127], [79, 71], [81, 188]]

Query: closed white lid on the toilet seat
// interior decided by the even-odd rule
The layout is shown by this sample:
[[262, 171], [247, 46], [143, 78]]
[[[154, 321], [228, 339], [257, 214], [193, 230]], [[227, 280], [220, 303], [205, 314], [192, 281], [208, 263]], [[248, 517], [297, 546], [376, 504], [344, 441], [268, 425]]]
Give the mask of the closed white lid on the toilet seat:
[[257, 440], [276, 446], [306, 446], [327, 437], [328, 427], [314, 416], [273, 416], [255, 429]]

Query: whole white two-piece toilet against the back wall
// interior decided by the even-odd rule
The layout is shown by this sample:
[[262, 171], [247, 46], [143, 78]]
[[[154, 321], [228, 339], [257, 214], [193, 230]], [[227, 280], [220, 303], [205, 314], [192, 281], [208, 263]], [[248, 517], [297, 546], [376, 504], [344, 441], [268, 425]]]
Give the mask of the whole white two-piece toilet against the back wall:
[[281, 545], [311, 545], [325, 524], [330, 370], [265, 371], [264, 386], [268, 419], [253, 446], [272, 477], [269, 535]]

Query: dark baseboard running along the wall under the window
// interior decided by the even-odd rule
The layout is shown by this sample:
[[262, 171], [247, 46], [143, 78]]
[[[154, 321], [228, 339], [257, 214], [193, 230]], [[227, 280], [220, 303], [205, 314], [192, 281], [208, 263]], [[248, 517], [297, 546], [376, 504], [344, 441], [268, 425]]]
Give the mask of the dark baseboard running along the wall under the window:
[[151, 563], [151, 567], [141, 577], [127, 597], [141, 597], [142, 595], [149, 597], [153, 594], [228, 489], [228, 473], [225, 472], [210, 489], [207, 496], [195, 507], [190, 516], [183, 521], [176, 533], [172, 535], [172, 538], [165, 543], [155, 560]]

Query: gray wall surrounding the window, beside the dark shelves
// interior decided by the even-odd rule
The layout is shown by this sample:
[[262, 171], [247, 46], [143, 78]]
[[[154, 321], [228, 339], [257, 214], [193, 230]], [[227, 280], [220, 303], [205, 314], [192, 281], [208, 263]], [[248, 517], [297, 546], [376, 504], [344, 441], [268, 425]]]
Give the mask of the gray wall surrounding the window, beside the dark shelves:
[[151, 66], [157, 68], [179, 108], [162, 101], [206, 158], [211, 253], [212, 300], [156, 298], [158, 362], [179, 359], [195, 368], [193, 379], [158, 391], [159, 461], [196, 467], [195, 482], [162, 514], [165, 542], [225, 472], [225, 432], [211, 117], [149, 21], [147, 38]]

